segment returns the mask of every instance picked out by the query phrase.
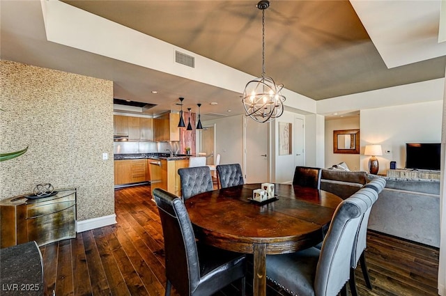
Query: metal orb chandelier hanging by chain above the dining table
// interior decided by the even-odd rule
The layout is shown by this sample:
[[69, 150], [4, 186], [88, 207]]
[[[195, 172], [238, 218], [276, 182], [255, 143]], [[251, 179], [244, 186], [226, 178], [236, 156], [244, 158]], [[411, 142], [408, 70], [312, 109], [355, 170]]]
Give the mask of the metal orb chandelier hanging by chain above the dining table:
[[265, 76], [265, 10], [268, 7], [268, 0], [257, 3], [257, 8], [262, 10], [262, 75], [246, 84], [242, 97], [245, 116], [259, 123], [266, 123], [281, 116], [284, 113], [285, 101], [281, 93], [284, 85], [275, 84], [271, 77]]

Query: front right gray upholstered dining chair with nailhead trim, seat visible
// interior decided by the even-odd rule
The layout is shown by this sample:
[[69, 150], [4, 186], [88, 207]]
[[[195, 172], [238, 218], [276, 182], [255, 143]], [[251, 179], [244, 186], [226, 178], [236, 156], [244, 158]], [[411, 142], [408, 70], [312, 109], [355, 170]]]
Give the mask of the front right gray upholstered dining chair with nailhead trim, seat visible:
[[[353, 243], [373, 195], [355, 193], [339, 204], [322, 248], [311, 247], [293, 254], [268, 255], [266, 276], [291, 295], [346, 295]], [[371, 196], [369, 196], [371, 195]]]

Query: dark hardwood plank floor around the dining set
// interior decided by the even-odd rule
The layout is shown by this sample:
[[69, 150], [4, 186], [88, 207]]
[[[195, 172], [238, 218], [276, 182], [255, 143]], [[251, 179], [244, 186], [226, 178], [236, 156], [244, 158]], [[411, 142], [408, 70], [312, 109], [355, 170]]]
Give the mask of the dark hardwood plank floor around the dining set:
[[[162, 228], [150, 192], [148, 186], [116, 189], [117, 224], [40, 247], [46, 295], [164, 295]], [[369, 232], [366, 256], [373, 290], [358, 266], [359, 295], [438, 295], [438, 249]], [[236, 282], [216, 295], [240, 295], [239, 289]], [[267, 294], [287, 295], [272, 283]]]

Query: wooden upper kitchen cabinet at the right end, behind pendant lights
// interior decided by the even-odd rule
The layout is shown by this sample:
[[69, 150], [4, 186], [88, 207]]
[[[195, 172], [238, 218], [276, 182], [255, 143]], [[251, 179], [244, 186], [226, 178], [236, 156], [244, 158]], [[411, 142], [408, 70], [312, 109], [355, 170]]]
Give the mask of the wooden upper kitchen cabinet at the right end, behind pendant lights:
[[169, 113], [153, 119], [155, 141], [180, 141], [180, 114]]

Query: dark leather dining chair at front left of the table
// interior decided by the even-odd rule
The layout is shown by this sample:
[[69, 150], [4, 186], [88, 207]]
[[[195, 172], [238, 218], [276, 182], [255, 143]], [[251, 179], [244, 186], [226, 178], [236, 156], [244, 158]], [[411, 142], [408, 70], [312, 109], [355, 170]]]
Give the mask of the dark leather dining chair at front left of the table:
[[245, 295], [245, 255], [197, 244], [183, 201], [153, 189], [164, 235], [166, 296], [173, 285], [181, 296], [213, 295], [238, 279]]

